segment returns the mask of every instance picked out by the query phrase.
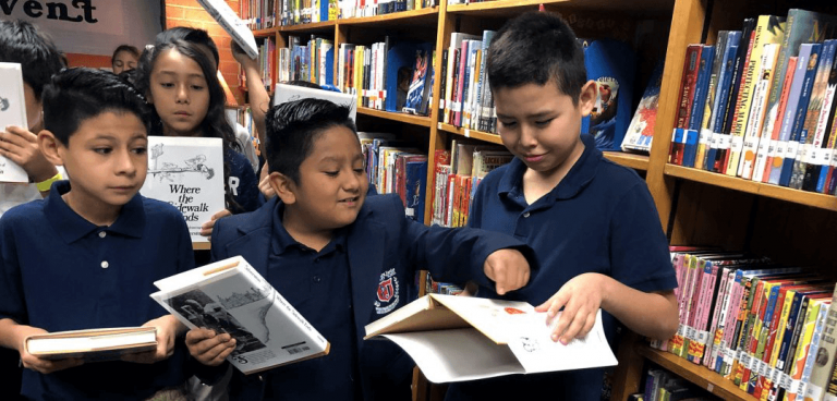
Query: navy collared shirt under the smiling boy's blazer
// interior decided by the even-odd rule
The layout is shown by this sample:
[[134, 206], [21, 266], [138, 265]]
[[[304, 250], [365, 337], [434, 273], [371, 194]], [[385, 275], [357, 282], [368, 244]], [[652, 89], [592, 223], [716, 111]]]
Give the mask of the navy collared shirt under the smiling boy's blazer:
[[312, 400], [351, 401], [357, 396], [360, 384], [345, 247], [348, 229], [336, 230], [331, 242], [317, 252], [288, 233], [282, 226], [283, 211], [284, 204], [274, 211], [267, 280], [329, 341], [331, 351], [326, 356], [267, 373], [265, 399], [296, 399], [294, 389], [301, 382], [311, 382], [316, 385], [305, 388], [305, 394]]

